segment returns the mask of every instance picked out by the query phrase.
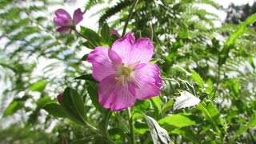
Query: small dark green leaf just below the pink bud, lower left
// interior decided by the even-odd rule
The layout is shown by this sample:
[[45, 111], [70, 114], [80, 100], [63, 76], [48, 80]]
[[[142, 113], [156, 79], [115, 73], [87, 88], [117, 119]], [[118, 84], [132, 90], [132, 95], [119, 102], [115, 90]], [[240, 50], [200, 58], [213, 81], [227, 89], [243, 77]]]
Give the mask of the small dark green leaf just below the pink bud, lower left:
[[46, 110], [49, 114], [53, 115], [54, 117], [58, 117], [58, 118], [67, 117], [65, 109], [56, 103], [50, 103], [44, 106], [43, 109]]

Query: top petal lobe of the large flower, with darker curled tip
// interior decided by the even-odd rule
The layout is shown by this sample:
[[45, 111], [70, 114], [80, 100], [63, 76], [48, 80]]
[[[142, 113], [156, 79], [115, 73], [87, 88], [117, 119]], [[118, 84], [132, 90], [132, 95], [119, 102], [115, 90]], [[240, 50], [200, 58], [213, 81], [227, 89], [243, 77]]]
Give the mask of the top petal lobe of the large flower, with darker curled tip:
[[116, 40], [113, 43], [113, 46], [111, 49], [114, 50], [120, 56], [120, 58], [122, 58], [123, 63], [128, 64], [128, 62], [130, 61], [129, 59], [130, 51], [132, 46], [134, 45], [134, 42], [135, 42], [134, 35], [128, 33], [124, 38], [120, 38]]

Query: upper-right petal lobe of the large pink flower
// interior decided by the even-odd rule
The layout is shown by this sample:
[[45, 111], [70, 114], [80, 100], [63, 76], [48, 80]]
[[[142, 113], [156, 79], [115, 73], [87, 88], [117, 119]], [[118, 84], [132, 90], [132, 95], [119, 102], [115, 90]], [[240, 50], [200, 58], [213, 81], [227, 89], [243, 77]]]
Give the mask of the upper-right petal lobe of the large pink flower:
[[140, 62], [147, 63], [150, 62], [154, 53], [154, 46], [150, 41], [150, 38], [140, 38], [134, 43], [132, 50], [130, 51], [130, 63]]

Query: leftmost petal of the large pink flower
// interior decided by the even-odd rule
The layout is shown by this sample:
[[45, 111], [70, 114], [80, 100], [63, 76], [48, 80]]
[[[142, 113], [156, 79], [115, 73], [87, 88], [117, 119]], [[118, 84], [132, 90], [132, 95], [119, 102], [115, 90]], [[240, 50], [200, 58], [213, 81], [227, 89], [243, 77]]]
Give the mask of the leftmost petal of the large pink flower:
[[98, 46], [86, 58], [86, 61], [92, 63], [92, 75], [98, 82], [101, 82], [103, 78], [116, 72], [116, 66], [111, 62], [108, 56], [108, 50], [104, 46]]

